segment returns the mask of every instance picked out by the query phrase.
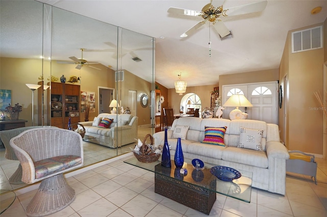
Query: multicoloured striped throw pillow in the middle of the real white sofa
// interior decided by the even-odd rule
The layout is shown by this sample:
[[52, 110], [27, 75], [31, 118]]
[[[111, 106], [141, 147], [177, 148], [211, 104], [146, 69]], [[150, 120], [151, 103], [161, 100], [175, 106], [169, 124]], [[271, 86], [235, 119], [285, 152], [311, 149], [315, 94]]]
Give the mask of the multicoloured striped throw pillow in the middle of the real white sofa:
[[227, 127], [204, 126], [204, 140], [202, 143], [225, 146], [224, 135]]

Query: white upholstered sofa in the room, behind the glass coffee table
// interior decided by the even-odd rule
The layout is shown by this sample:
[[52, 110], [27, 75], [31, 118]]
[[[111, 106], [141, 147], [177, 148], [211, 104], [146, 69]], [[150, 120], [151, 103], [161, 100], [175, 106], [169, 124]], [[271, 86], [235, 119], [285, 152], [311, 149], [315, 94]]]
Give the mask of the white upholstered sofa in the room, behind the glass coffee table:
[[[183, 117], [176, 119], [167, 132], [172, 159], [175, 154], [177, 139], [171, 137], [176, 125], [190, 126], [186, 140], [181, 140], [185, 158], [199, 158], [209, 164], [250, 171], [253, 173], [252, 187], [285, 195], [286, 159], [289, 158], [289, 153], [279, 140], [279, 130], [276, 124], [267, 124], [255, 120], [230, 121], [218, 118]], [[205, 135], [205, 126], [227, 126], [224, 134], [225, 146], [201, 143]], [[263, 129], [262, 151], [237, 147], [240, 141], [240, 127]], [[154, 133], [153, 138], [155, 145], [163, 145], [165, 132]]]

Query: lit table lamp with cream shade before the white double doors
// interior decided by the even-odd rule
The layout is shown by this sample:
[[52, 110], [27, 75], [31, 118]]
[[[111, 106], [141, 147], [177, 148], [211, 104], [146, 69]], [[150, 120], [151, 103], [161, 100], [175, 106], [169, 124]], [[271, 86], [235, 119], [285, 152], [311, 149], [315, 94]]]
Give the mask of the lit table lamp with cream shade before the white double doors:
[[235, 110], [229, 113], [229, 119], [246, 119], [247, 114], [239, 110], [239, 107], [252, 107], [253, 105], [247, 100], [243, 94], [233, 94], [229, 99], [224, 103], [225, 107], [236, 107]]

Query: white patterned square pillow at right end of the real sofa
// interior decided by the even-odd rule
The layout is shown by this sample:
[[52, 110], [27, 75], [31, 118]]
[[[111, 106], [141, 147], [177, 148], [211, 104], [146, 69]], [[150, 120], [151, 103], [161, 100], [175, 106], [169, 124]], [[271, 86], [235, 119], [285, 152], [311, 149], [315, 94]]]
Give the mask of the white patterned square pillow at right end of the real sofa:
[[240, 130], [240, 143], [238, 148], [262, 151], [261, 138], [264, 133], [263, 129], [248, 129], [240, 127]]

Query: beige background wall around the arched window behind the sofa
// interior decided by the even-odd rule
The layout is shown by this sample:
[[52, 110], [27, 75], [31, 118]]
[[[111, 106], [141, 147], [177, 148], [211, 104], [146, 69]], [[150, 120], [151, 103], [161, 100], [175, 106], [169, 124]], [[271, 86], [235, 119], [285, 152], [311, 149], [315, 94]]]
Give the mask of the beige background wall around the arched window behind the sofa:
[[196, 86], [196, 87], [187, 87], [186, 92], [182, 96], [176, 93], [174, 89], [168, 89], [168, 104], [167, 106], [172, 107], [174, 114], [179, 113], [179, 106], [182, 97], [188, 93], [195, 93], [201, 99], [202, 110], [204, 107], [211, 106], [211, 92], [214, 91], [214, 88], [218, 87], [217, 85], [206, 85], [206, 86]]

